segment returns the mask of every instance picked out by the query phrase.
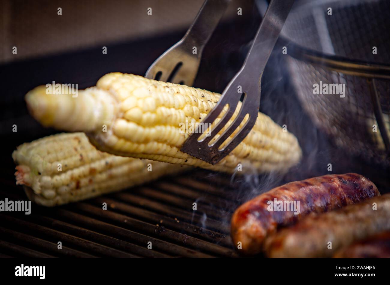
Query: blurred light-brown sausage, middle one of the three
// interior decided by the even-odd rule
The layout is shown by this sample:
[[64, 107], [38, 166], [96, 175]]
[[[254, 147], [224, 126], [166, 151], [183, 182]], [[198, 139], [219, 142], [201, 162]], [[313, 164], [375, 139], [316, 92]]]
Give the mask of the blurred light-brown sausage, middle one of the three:
[[385, 230], [390, 230], [390, 194], [310, 214], [269, 236], [264, 248], [268, 257], [332, 257], [340, 248]]

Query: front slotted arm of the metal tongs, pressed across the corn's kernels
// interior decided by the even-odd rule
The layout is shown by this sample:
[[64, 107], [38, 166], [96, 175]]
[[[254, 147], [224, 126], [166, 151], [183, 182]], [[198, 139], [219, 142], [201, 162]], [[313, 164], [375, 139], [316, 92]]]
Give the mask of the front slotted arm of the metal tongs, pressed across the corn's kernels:
[[[205, 123], [206, 126], [209, 123], [214, 122], [216, 117], [221, 113], [221, 109], [226, 104], [229, 104], [230, 106], [228, 114], [219, 122], [218, 126], [214, 127], [211, 131], [210, 138], [199, 142], [197, 140], [199, 134], [197, 134], [197, 136], [190, 135], [181, 147], [183, 152], [208, 163], [216, 164], [242, 142], [246, 135], [251, 131], [252, 127], [255, 125], [259, 112], [262, 73], [293, 3], [294, 0], [272, 0], [270, 2], [261, 25], [257, 30], [252, 46], [246, 55], [243, 66], [225, 88], [220, 101], [216, 104], [215, 108], [213, 108], [211, 113], [209, 113], [202, 122]], [[236, 106], [240, 99], [237, 92], [239, 89], [237, 88], [241, 89], [243, 92], [241, 94], [245, 95], [241, 110], [232, 124], [223, 131], [222, 135], [209, 145], [208, 142], [218, 134], [236, 110]], [[246, 115], [249, 115], [249, 118], [245, 124], [238, 130], [232, 139], [220, 149], [222, 143], [234, 133], [243, 119], [245, 119]]]

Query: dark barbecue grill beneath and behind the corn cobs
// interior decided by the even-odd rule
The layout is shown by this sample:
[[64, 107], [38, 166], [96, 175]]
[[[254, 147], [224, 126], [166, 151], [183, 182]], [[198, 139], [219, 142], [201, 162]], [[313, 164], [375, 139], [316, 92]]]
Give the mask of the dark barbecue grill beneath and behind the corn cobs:
[[[250, 13], [239, 23], [217, 28], [204, 50], [195, 87], [221, 92], [238, 71], [260, 21], [255, 7]], [[0, 200], [27, 199], [15, 185], [11, 153], [16, 146], [57, 133], [28, 115], [23, 101], [28, 90], [52, 80], [79, 82], [82, 89], [112, 71], [144, 74], [183, 33], [115, 44], [107, 55], [97, 47], [2, 65], [7, 85], [0, 99], [4, 158]], [[30, 215], [0, 212], [0, 257], [239, 257], [230, 239], [231, 214], [246, 200], [275, 186], [327, 173], [358, 172], [369, 177], [381, 193], [388, 192], [386, 170], [360, 156], [349, 156], [316, 128], [301, 108], [285, 70], [287, 65], [279, 55], [271, 55], [262, 80], [261, 104], [261, 112], [286, 124], [303, 149], [303, 161], [283, 177], [272, 173], [240, 177], [195, 169], [60, 207], [32, 204]], [[12, 132], [14, 124], [17, 132]], [[328, 163], [332, 172], [327, 170]], [[104, 202], [107, 210], [102, 209]], [[197, 210], [193, 210], [194, 202]], [[62, 250], [57, 249], [59, 241]]]

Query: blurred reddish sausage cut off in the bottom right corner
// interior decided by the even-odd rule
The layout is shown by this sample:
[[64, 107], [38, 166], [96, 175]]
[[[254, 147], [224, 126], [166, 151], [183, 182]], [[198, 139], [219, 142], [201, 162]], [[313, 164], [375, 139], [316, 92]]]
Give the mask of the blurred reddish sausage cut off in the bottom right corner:
[[342, 248], [335, 258], [390, 258], [390, 232], [373, 235]]

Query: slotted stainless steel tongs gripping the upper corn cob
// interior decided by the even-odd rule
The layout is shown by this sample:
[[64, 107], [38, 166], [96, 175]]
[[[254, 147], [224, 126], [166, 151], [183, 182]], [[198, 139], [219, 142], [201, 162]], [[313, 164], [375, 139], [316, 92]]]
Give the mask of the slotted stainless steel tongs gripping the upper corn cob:
[[[165, 51], [149, 67], [145, 77], [191, 86], [199, 69], [203, 47], [222, 18], [229, 1], [206, 0], [183, 39]], [[264, 67], [293, 4], [294, 0], [271, 1], [243, 66], [229, 82], [213, 110], [195, 129], [195, 133], [184, 142], [181, 151], [214, 165], [227, 156], [248, 135], [259, 112], [261, 77]], [[195, 54], [192, 52], [194, 46], [197, 47]], [[216, 140], [213, 140], [215, 135], [229, 122], [242, 96], [243, 103], [237, 117]], [[225, 105], [228, 105], [228, 110], [218, 124], [213, 126], [213, 129], [207, 130], [202, 127], [202, 124], [211, 126]], [[238, 130], [229, 143], [221, 147], [245, 117], [248, 117], [245, 125]], [[206, 131], [207, 135], [202, 135], [203, 131]]]

